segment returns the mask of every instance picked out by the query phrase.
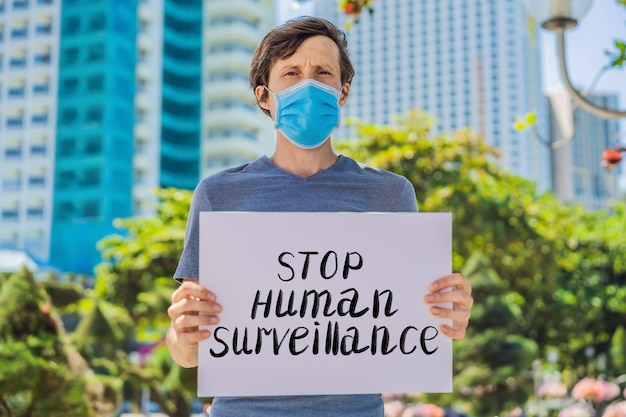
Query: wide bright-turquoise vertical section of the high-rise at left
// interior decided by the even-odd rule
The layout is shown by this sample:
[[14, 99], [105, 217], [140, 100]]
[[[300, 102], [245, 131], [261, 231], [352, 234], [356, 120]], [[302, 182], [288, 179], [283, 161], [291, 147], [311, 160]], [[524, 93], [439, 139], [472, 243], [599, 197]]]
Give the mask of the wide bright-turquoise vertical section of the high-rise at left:
[[50, 259], [91, 272], [96, 242], [132, 214], [136, 0], [65, 0]]

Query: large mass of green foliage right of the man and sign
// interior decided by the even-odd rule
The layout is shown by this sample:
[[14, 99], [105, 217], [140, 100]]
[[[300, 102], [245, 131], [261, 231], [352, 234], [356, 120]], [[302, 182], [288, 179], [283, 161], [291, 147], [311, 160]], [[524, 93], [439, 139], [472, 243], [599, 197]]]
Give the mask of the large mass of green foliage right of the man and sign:
[[[467, 338], [453, 345], [455, 394], [424, 397], [498, 415], [532, 395], [532, 361], [551, 349], [578, 377], [586, 348], [607, 354], [626, 310], [626, 210], [563, 206], [498, 169], [477, 135], [431, 137], [431, 125], [419, 112], [398, 127], [357, 123], [360, 139], [337, 149], [407, 177], [421, 211], [453, 214], [453, 267], [475, 306]], [[614, 365], [607, 376], [626, 373]]]

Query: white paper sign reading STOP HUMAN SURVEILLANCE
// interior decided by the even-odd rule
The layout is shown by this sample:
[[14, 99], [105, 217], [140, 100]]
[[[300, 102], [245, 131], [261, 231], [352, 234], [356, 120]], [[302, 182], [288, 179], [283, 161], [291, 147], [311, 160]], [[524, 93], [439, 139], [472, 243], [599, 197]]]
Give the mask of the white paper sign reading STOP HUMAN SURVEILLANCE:
[[450, 392], [449, 213], [200, 213], [200, 284], [223, 306], [198, 396]]

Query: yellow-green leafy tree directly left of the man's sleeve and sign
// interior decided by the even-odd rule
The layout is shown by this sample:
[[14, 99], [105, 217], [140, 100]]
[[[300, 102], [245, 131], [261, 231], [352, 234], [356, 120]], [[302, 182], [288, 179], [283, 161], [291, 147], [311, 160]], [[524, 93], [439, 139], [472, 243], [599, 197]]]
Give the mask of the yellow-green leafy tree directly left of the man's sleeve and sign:
[[162, 342], [191, 192], [162, 189], [157, 197], [155, 216], [118, 219], [120, 234], [99, 243], [104, 261], [79, 303], [73, 339], [101, 374], [127, 381], [127, 395], [148, 387], [164, 413], [188, 417], [196, 371], [173, 364]]

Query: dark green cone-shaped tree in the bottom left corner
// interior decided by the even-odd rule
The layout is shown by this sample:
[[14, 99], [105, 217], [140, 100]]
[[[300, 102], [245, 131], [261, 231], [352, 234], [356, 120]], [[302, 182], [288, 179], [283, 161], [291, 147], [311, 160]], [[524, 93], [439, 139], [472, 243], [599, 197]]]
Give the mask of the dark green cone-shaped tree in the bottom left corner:
[[0, 292], [0, 415], [106, 416], [115, 389], [69, 343], [43, 286], [22, 270]]

